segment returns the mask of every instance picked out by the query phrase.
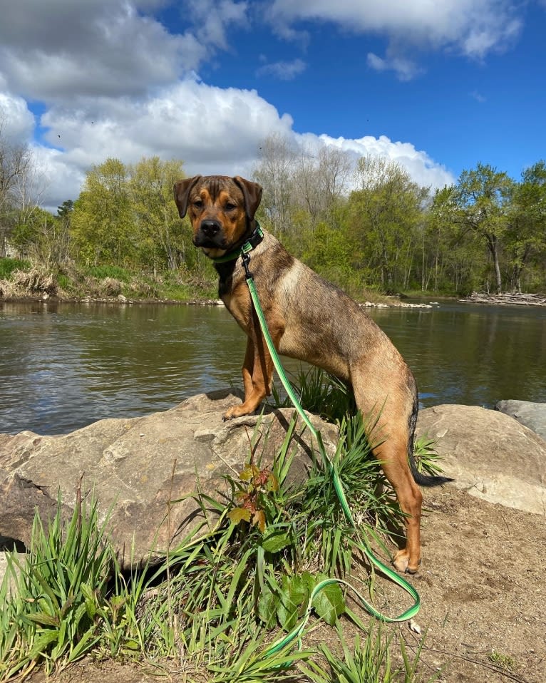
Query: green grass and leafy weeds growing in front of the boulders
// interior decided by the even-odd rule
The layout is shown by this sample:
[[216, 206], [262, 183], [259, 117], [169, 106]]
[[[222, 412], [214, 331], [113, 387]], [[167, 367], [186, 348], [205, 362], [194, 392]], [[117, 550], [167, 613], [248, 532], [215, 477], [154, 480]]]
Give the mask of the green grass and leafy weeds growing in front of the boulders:
[[[202, 525], [163, 562], [129, 575], [120, 570], [108, 515], [99, 521], [93, 495], [78, 493], [65, 522], [58, 500], [47, 525], [36, 516], [27, 553], [20, 560], [8, 555], [0, 587], [0, 681], [37, 665], [55, 673], [86, 655], [168, 662], [197, 683], [418, 680], [419, 652], [410, 658], [400, 645], [393, 656], [396, 631], [364, 624], [339, 584], [316, 590], [324, 577], [366, 581], [355, 543], [364, 535], [383, 543], [400, 513], [371, 456], [365, 421], [346, 414], [346, 391], [323, 375], [300, 379], [307, 383], [300, 393], [316, 405], [311, 394], [320, 392], [339, 420], [334, 458], [359, 529], [348, 528], [319, 461], [311, 461], [304, 481], [289, 476], [295, 422], [271, 466], [262, 462], [268, 436], [258, 426], [247, 463], [227, 477], [232, 494], [216, 499], [197, 491]], [[331, 628], [339, 647], [314, 637], [320, 625]], [[294, 629], [294, 640], [285, 640]]]

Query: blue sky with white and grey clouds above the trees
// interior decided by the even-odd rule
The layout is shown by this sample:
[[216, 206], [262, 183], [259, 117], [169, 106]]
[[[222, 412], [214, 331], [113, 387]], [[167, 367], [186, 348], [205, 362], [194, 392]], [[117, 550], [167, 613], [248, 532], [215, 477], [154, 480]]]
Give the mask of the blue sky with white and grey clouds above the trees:
[[0, 0], [0, 130], [39, 200], [107, 158], [251, 176], [269, 135], [441, 188], [546, 158], [546, 0]]

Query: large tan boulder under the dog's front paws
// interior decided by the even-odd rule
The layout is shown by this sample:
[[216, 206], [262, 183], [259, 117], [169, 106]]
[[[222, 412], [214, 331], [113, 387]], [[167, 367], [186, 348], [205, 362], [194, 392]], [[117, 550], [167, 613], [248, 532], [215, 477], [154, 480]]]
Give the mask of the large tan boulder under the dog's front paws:
[[[254, 428], [262, 433], [257, 453], [263, 451], [264, 465], [282, 444], [293, 409], [223, 422], [237, 400], [218, 391], [163, 413], [101, 420], [64, 436], [0, 434], [0, 537], [28, 545], [35, 510], [45, 523], [56, 512], [59, 491], [63, 511], [71, 515], [83, 477], [82, 492], [95, 492], [102, 518], [112, 508], [109, 535], [122, 567], [141, 563], [151, 551], [158, 557], [202, 523], [191, 497], [197, 486], [209, 495], [229, 493], [224, 475], [236, 476], [248, 460]], [[336, 428], [311, 419], [333, 451]], [[296, 441], [291, 476], [301, 478], [310, 462], [309, 431]]]

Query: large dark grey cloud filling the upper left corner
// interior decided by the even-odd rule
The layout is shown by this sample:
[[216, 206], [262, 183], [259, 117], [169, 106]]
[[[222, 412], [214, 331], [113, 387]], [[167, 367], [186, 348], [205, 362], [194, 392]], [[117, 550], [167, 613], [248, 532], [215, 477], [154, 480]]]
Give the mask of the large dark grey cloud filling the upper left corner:
[[[18, 0], [0, 22], [0, 63], [8, 88], [41, 101], [78, 96], [143, 96], [197, 69], [225, 48], [226, 26], [244, 21], [246, 5], [187, 0], [188, 28], [170, 34], [139, 11], [157, 0]], [[31, 20], [29, 20], [29, 17]], [[197, 24], [192, 30], [194, 22]]]

